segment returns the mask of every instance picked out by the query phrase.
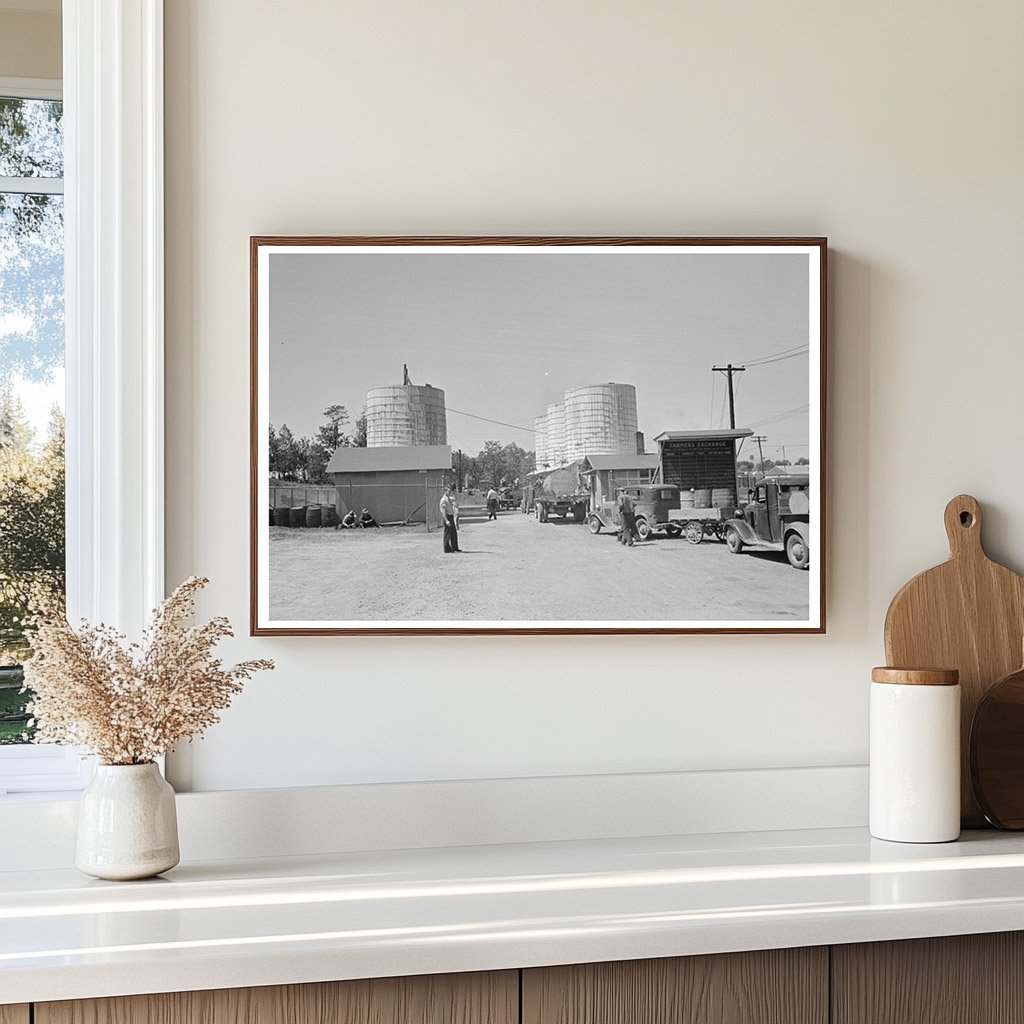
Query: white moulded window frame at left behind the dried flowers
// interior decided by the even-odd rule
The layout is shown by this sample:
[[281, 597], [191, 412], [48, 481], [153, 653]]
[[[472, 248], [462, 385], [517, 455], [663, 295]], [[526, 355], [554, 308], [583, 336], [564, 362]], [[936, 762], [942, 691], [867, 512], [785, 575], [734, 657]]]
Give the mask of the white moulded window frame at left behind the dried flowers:
[[[163, 0], [62, 16], [62, 83], [5, 82], [65, 104], [68, 616], [137, 636], [164, 597]], [[0, 749], [0, 799], [91, 774], [75, 751]]]

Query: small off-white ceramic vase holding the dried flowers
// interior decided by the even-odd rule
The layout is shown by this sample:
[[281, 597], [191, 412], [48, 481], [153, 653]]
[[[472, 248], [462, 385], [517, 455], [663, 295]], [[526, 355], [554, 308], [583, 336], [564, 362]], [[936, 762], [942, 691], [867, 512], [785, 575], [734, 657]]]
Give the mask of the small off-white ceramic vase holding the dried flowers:
[[157, 765], [97, 765], [79, 809], [78, 869], [121, 882], [160, 874], [179, 859], [174, 791]]

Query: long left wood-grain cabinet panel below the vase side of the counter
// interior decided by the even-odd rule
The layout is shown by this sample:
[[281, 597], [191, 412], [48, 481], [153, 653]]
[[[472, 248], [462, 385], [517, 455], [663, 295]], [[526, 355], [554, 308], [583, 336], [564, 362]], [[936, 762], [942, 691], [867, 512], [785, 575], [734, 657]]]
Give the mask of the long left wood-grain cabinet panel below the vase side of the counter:
[[36, 1005], [36, 1024], [517, 1024], [515, 971]]

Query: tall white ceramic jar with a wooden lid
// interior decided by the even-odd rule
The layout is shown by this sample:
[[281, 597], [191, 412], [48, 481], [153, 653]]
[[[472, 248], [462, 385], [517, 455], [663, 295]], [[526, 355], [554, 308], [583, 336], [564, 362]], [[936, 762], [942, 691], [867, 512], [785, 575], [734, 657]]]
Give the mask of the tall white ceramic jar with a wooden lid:
[[959, 674], [871, 672], [870, 831], [896, 843], [959, 837]]

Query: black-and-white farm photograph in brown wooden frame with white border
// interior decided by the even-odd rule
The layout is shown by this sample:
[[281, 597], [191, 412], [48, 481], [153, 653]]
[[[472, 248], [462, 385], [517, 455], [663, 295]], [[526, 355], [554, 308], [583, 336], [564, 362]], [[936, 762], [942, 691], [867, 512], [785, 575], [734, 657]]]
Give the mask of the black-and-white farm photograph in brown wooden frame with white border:
[[823, 633], [826, 248], [253, 238], [252, 633]]

